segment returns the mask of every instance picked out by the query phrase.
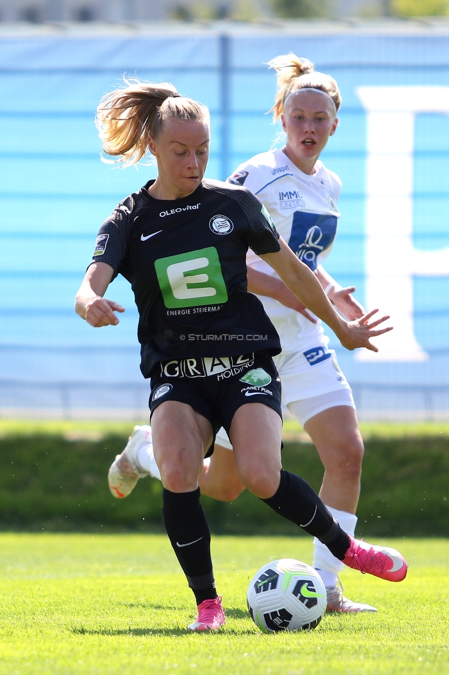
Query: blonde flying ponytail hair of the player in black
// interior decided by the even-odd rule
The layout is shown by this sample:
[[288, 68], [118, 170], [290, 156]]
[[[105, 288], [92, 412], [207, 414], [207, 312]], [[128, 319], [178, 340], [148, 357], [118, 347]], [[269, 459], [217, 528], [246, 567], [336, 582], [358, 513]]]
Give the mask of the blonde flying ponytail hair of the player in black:
[[155, 84], [124, 77], [123, 84], [100, 101], [95, 124], [104, 153], [118, 157], [113, 162], [128, 166], [146, 157], [149, 139], [159, 136], [169, 118], [209, 124], [209, 110], [184, 98], [169, 82]]

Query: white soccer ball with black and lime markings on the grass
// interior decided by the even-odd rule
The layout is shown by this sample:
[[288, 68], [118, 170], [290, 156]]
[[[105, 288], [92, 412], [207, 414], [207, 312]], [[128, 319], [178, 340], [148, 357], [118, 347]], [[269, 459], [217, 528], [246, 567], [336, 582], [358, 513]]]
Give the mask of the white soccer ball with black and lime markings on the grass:
[[251, 619], [262, 631], [316, 628], [326, 610], [326, 589], [313, 567], [284, 558], [264, 565], [247, 593]]

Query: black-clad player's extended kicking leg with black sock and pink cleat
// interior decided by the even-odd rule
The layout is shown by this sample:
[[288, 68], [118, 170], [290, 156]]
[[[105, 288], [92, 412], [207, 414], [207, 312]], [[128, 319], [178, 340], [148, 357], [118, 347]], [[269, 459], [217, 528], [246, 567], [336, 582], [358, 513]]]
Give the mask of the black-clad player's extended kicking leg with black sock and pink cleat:
[[403, 580], [407, 564], [398, 551], [359, 542], [345, 533], [308, 483], [281, 469], [281, 427], [278, 413], [264, 404], [237, 409], [229, 436], [243, 485], [279, 515], [318, 537], [347, 566], [390, 581]]

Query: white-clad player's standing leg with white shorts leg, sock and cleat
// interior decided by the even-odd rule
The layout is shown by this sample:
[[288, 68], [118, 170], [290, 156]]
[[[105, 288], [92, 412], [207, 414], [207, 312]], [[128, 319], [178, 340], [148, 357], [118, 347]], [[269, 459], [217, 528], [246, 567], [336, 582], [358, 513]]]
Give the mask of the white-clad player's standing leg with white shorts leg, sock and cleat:
[[[360, 492], [363, 441], [357, 423], [352, 391], [335, 355], [325, 340], [312, 350], [280, 355], [278, 370], [283, 383], [283, 400], [316, 445], [325, 467], [320, 497], [343, 529], [354, 536], [355, 510]], [[343, 568], [327, 546], [314, 542], [314, 567], [327, 589], [328, 611], [375, 611], [375, 608], [343, 597], [338, 573]]]

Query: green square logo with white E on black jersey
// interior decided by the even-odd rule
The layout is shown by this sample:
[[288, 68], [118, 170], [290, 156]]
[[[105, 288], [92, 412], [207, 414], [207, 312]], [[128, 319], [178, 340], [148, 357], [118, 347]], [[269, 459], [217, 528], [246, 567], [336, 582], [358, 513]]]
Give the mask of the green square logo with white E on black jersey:
[[166, 307], [226, 302], [228, 294], [215, 247], [170, 255], [154, 263]]

